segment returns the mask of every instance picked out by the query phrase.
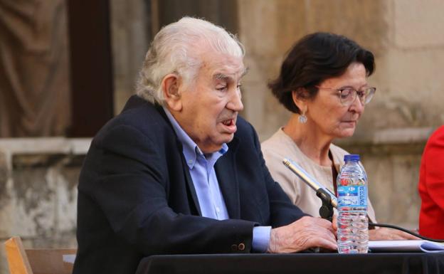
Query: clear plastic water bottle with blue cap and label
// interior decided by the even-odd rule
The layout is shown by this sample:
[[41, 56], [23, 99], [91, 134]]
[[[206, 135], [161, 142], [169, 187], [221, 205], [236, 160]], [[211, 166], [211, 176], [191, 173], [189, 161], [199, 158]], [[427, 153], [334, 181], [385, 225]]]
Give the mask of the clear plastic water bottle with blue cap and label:
[[359, 155], [345, 155], [344, 162], [337, 177], [339, 253], [367, 253], [367, 175], [359, 162]]

